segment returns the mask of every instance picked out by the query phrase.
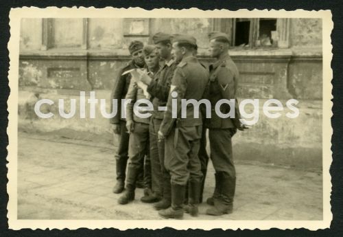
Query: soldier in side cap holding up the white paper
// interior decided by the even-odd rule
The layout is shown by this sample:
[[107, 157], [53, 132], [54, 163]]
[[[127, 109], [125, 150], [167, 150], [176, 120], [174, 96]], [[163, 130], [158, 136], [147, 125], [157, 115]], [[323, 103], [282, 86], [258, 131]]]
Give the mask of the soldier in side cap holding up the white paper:
[[152, 168], [158, 167], [159, 170], [152, 170], [152, 180], [159, 181], [160, 194], [163, 199], [154, 204], [156, 210], [167, 209], [171, 205], [170, 174], [165, 169], [165, 142], [158, 140], [158, 130], [160, 129], [164, 111], [158, 107], [166, 106], [170, 91], [171, 78], [176, 69], [176, 62], [171, 55], [171, 35], [158, 32], [152, 36], [156, 45], [158, 54], [165, 60], [165, 63], [158, 74], [152, 80], [149, 77], [143, 77], [142, 81], [147, 84], [147, 91], [154, 97], [154, 113], [150, 120], [150, 154]]

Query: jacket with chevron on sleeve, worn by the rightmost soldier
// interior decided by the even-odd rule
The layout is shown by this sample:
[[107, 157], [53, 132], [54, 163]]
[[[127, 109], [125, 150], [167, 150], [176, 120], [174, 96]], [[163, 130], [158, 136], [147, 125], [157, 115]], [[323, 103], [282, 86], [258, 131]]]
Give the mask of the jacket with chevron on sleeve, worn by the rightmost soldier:
[[[207, 128], [239, 128], [239, 109], [236, 100], [236, 92], [239, 81], [239, 71], [233, 60], [226, 54], [209, 67], [210, 82], [208, 99], [211, 102], [211, 118], [207, 118]], [[235, 118], [222, 118], [215, 113], [215, 104], [222, 99], [235, 99]], [[220, 111], [229, 113], [230, 106], [222, 104]]]

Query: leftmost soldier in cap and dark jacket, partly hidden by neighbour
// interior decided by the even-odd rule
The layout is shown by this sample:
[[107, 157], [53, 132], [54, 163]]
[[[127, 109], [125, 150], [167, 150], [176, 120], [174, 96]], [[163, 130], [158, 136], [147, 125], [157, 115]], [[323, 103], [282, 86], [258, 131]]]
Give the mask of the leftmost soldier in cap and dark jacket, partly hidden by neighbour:
[[118, 110], [115, 117], [110, 119], [110, 124], [112, 125], [113, 132], [119, 135], [119, 144], [117, 152], [115, 154], [117, 183], [113, 188], [114, 193], [123, 192], [126, 179], [126, 164], [128, 162], [129, 133], [126, 130], [125, 118], [121, 117], [121, 99], [124, 99], [126, 93], [128, 92], [131, 76], [130, 74], [122, 74], [123, 72], [128, 71], [130, 69], [145, 67], [142, 52], [143, 43], [141, 43], [141, 41], [132, 41], [128, 49], [132, 56], [132, 60], [130, 60], [130, 62], [125, 67], [119, 70], [119, 74], [115, 80], [115, 86], [113, 87], [113, 92], [111, 94], [112, 99], [117, 99]]

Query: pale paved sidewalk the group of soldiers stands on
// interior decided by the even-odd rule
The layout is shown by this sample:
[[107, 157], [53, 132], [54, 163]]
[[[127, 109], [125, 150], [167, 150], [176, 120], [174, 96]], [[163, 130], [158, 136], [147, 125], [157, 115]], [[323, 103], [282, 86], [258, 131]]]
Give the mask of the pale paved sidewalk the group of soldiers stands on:
[[[118, 205], [113, 194], [115, 159], [108, 144], [56, 139], [19, 133], [18, 218], [20, 219], [161, 219], [152, 205], [136, 199]], [[237, 157], [236, 157], [237, 158]], [[322, 174], [237, 163], [237, 189], [233, 214], [199, 219], [321, 220]], [[214, 170], [211, 162], [204, 198], [211, 196]], [[185, 214], [185, 219], [196, 219]]]

